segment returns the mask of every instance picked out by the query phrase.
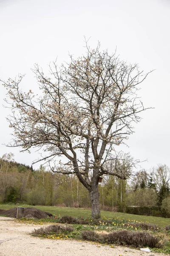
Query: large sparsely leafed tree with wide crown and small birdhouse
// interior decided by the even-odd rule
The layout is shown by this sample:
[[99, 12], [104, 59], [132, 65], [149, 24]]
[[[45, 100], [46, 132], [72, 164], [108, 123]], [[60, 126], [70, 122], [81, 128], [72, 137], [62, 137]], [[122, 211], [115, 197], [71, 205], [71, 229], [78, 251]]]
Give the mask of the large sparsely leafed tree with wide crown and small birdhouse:
[[[12, 109], [8, 117], [14, 130], [11, 146], [23, 151], [43, 148], [48, 154], [40, 160], [64, 157], [53, 171], [77, 175], [90, 193], [92, 217], [99, 218], [99, 177], [109, 174], [126, 179], [137, 163], [129, 155], [114, 153], [146, 109], [137, 92], [148, 73], [120, 61], [116, 54], [109, 55], [108, 50], [101, 52], [99, 44], [93, 50], [86, 46], [86, 55], [70, 56], [70, 64], [60, 68], [56, 62], [50, 64], [50, 77], [34, 66], [43, 92], [40, 97], [20, 90], [23, 76], [3, 84]], [[112, 169], [108, 169], [109, 161]]]

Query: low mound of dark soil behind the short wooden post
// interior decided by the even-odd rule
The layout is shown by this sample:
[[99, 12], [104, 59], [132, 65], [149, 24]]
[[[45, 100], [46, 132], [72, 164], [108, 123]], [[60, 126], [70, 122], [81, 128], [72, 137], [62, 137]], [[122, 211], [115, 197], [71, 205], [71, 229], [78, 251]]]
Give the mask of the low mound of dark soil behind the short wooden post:
[[[7, 217], [17, 218], [17, 208], [12, 208], [9, 210], [2, 210], [0, 209], [0, 215], [6, 215]], [[24, 217], [25, 218], [34, 218], [34, 219], [41, 219], [47, 218], [48, 216], [52, 216], [49, 212], [42, 212], [37, 208], [24, 208]]]

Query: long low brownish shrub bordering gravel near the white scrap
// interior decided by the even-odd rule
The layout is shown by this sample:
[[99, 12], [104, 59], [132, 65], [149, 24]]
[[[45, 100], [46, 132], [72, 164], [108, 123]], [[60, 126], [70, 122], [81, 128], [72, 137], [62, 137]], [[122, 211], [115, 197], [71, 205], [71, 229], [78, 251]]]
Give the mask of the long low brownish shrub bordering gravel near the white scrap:
[[163, 243], [159, 241], [159, 238], [152, 236], [146, 232], [135, 232], [135, 231], [116, 231], [112, 233], [96, 233], [95, 231], [83, 231], [82, 238], [90, 241], [97, 241], [99, 243], [109, 244], [121, 244], [130, 245], [133, 247], [163, 247]]

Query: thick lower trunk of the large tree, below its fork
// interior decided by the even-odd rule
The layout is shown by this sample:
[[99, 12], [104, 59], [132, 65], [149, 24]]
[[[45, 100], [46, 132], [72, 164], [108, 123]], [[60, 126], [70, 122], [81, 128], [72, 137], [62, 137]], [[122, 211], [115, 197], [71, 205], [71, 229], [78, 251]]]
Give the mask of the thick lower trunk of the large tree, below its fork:
[[100, 218], [100, 205], [99, 205], [99, 191], [98, 187], [92, 189], [90, 191], [91, 198], [91, 216], [92, 218], [98, 219]]

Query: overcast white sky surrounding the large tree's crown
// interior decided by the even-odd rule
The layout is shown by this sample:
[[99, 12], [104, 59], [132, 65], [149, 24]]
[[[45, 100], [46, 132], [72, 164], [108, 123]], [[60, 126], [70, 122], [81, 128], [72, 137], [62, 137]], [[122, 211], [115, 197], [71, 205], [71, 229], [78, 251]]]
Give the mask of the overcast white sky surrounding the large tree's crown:
[[[48, 70], [58, 56], [68, 61], [68, 52], [82, 55], [84, 35], [90, 46], [117, 54], [141, 70], [156, 69], [141, 84], [145, 107], [143, 120], [128, 140], [134, 158], [150, 169], [158, 163], [170, 166], [170, 0], [0, 0], [0, 79], [26, 73], [23, 90], [36, 91], [31, 72], [34, 63]], [[17, 162], [31, 165], [36, 154], [7, 148], [12, 130], [3, 108], [6, 90], [0, 86], [0, 157], [14, 153]], [[39, 165], [34, 166], [38, 168]]]

